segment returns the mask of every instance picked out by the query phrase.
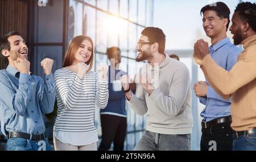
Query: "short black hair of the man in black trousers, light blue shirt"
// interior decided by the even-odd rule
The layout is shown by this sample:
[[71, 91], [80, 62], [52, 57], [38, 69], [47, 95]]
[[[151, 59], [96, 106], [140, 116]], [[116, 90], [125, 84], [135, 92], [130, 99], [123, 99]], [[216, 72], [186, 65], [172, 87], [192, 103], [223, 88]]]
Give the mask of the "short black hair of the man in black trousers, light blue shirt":
[[229, 19], [229, 15], [230, 15], [230, 10], [229, 7], [223, 3], [223, 2], [215, 2], [209, 5], [204, 6], [201, 11], [200, 14], [204, 14], [205, 11], [208, 10], [213, 10], [216, 12], [217, 16], [219, 16], [222, 19], [228, 19], [228, 24], [226, 24], [226, 31], [228, 31], [229, 28], [229, 23], [230, 23], [230, 19]]

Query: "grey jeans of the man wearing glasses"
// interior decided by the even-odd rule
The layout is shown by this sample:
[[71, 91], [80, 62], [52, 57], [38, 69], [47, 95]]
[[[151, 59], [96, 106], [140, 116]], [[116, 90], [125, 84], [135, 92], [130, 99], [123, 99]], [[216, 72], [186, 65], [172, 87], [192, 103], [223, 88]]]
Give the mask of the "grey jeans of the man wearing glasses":
[[189, 151], [190, 134], [167, 135], [145, 131], [134, 151]]

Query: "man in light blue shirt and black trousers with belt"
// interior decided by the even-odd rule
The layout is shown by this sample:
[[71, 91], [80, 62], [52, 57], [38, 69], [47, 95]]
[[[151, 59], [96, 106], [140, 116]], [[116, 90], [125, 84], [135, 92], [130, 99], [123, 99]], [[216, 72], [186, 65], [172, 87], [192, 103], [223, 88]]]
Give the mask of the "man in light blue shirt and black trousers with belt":
[[[210, 56], [226, 70], [230, 70], [237, 62], [242, 49], [236, 47], [227, 38], [230, 10], [223, 2], [216, 2], [201, 9], [203, 27], [211, 39]], [[232, 128], [230, 127], [230, 101], [218, 95], [209, 82], [199, 81], [193, 87], [200, 103], [205, 105], [201, 112], [203, 117], [201, 150], [232, 150]]]

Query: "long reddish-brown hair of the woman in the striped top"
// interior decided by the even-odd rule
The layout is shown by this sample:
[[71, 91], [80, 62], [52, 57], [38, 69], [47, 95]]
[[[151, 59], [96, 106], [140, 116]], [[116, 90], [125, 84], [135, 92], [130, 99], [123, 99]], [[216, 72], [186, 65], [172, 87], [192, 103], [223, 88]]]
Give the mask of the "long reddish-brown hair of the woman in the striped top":
[[63, 62], [63, 66], [62, 66], [63, 68], [72, 65], [73, 61], [75, 60], [76, 52], [79, 49], [82, 41], [84, 41], [84, 40], [89, 40], [90, 43], [92, 43], [92, 55], [90, 56], [90, 59], [85, 63], [87, 65], [90, 64], [90, 66], [88, 68], [88, 72], [90, 69], [92, 69], [92, 66], [93, 66], [93, 41], [89, 36], [84, 36], [84, 35], [76, 36], [75, 38], [72, 39], [71, 43], [68, 46], [68, 51], [66, 52], [65, 57], [64, 57], [64, 62]]

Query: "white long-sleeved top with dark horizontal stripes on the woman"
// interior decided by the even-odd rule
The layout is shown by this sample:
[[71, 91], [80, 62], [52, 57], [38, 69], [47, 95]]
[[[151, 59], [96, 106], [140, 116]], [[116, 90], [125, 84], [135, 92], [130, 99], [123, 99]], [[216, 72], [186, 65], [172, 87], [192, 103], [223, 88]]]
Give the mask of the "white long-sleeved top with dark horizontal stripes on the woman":
[[56, 70], [57, 117], [54, 132], [96, 132], [94, 109], [104, 109], [108, 103], [108, 79], [100, 80], [95, 72], [80, 79], [76, 73], [62, 68]]

